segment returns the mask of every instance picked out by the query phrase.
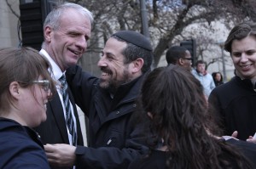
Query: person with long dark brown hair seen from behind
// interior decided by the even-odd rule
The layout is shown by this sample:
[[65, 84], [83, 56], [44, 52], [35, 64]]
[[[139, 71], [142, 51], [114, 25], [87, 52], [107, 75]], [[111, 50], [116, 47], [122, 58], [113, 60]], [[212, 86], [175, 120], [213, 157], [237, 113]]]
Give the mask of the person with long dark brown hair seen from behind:
[[170, 65], [149, 73], [138, 107], [138, 122], [150, 119], [150, 151], [132, 161], [129, 169], [255, 168], [256, 144], [243, 142], [247, 147], [242, 152], [230, 143], [240, 141], [218, 137], [221, 130], [209, 113], [201, 82], [182, 67]]

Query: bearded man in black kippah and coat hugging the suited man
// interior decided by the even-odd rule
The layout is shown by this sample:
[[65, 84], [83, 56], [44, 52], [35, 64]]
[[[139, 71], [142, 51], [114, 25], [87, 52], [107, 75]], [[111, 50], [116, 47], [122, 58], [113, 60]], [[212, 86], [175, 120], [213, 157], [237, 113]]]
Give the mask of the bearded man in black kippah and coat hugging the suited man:
[[102, 50], [100, 78], [82, 71], [79, 65], [67, 70], [75, 102], [89, 118], [89, 147], [46, 145], [51, 164], [123, 169], [147, 152], [141, 127], [134, 126], [131, 115], [137, 109], [143, 76], [152, 60], [153, 49], [147, 37], [136, 31], [118, 31]]

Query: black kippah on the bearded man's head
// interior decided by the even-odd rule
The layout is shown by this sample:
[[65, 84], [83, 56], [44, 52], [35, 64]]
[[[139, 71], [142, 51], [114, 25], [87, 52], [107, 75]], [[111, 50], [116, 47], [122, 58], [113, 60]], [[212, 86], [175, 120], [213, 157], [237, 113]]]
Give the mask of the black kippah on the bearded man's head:
[[149, 51], [153, 50], [150, 42], [148, 41], [148, 38], [136, 31], [118, 31], [114, 33], [112, 36], [119, 37], [120, 39], [123, 39], [125, 42], [131, 42], [137, 47], [144, 48]]

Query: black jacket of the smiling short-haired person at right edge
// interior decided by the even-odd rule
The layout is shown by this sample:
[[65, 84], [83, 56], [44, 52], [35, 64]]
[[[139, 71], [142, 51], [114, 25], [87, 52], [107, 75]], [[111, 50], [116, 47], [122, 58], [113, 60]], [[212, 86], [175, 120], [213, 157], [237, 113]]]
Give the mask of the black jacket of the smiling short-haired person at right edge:
[[237, 131], [237, 138], [246, 140], [256, 132], [256, 92], [251, 80], [235, 76], [214, 88], [208, 101], [220, 115], [224, 135]]

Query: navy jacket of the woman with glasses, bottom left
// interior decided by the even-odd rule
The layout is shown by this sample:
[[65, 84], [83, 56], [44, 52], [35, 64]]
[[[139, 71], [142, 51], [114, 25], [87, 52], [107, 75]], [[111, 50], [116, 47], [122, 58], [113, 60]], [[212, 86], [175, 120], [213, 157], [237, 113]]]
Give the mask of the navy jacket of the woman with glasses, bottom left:
[[0, 117], [0, 168], [49, 169], [38, 133]]

